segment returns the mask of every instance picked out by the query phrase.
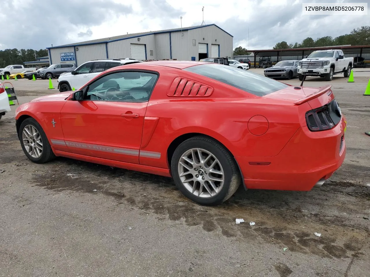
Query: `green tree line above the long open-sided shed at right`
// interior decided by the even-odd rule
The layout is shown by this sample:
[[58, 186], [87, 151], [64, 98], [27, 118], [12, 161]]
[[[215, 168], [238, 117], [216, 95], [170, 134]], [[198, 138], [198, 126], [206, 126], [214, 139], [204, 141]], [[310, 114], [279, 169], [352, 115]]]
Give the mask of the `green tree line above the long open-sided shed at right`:
[[370, 44], [370, 26], [362, 26], [353, 29], [351, 33], [340, 35], [339, 37], [322, 37], [313, 40], [313, 38], [305, 38], [301, 43], [288, 44], [286, 41], [278, 42], [273, 49], [288, 49], [288, 48], [311, 48], [333, 45], [369, 45]]

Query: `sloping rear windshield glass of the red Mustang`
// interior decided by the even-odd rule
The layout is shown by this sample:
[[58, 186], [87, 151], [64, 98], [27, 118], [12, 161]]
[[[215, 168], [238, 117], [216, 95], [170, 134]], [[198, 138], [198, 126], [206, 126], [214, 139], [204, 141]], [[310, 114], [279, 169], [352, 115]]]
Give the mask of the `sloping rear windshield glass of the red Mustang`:
[[268, 95], [269, 93], [288, 87], [288, 85], [257, 73], [240, 70], [231, 66], [203, 64], [191, 66], [184, 70], [214, 79], [257, 96]]

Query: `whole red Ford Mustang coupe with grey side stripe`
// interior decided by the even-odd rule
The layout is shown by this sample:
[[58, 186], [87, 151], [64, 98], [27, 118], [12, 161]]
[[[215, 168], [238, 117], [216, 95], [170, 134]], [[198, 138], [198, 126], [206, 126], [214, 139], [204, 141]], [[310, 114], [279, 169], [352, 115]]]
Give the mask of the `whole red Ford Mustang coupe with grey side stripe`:
[[20, 105], [26, 156], [63, 156], [172, 176], [203, 205], [248, 189], [308, 191], [343, 163], [346, 122], [331, 86], [290, 86], [218, 64], [118, 66], [80, 90]]

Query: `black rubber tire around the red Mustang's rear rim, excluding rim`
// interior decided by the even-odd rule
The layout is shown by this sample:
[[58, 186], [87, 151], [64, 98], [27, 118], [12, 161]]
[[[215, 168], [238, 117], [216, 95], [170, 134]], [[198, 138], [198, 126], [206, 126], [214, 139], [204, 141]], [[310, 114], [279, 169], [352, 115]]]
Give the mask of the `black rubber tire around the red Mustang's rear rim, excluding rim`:
[[[179, 177], [179, 171], [178, 171], [178, 164], [179, 160], [186, 151], [192, 149], [192, 148], [201, 148], [204, 149], [210, 153], [221, 164], [223, 171], [224, 171], [224, 183], [223, 187], [221, 188], [221, 191], [218, 192], [218, 194], [209, 197], [209, 198], [202, 198], [199, 196], [196, 196], [192, 194], [188, 189], [184, 187], [184, 185], [181, 182], [181, 179]], [[197, 136], [189, 138], [188, 140], [185, 140], [183, 143], [181, 143], [175, 150], [174, 154], [172, 155], [171, 159], [171, 172], [172, 177], [174, 178], [176, 187], [179, 189], [179, 191], [182, 192], [186, 197], [194, 201], [195, 203], [201, 204], [201, 205], [218, 205], [222, 202], [229, 199], [235, 191], [238, 189], [241, 177], [240, 172], [238, 170], [238, 167], [235, 163], [234, 158], [229, 153], [228, 150], [226, 150], [221, 144], [219, 144], [217, 141], [212, 140], [211, 138]], [[206, 174], [206, 172], [205, 172]]]

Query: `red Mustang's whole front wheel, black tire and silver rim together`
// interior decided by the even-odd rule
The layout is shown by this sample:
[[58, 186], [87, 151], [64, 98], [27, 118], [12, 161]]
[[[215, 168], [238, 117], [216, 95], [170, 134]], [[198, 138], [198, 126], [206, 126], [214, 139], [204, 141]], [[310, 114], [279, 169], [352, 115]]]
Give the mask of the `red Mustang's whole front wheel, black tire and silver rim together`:
[[33, 118], [22, 122], [19, 140], [24, 154], [34, 163], [46, 163], [55, 157], [44, 130]]

